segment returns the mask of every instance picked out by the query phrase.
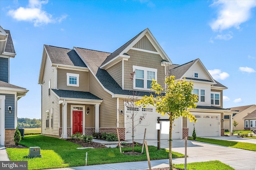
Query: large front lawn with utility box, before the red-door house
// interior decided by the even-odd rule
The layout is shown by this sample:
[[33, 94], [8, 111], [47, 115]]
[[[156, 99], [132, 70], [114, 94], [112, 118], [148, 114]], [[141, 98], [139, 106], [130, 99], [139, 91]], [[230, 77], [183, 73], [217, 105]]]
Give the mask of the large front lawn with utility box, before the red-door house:
[[[63, 139], [42, 135], [24, 136], [20, 144], [41, 148], [42, 158], [28, 158], [28, 149], [6, 148], [11, 161], [28, 161], [29, 170], [84, 166], [86, 152], [88, 152], [87, 165], [147, 160], [145, 148], [142, 155], [131, 156], [121, 154], [119, 148], [76, 149], [82, 146]], [[141, 152], [141, 149], [142, 146], [134, 147], [136, 152]], [[150, 160], [168, 159], [169, 150], [157, 150], [155, 146], [148, 146], [148, 150]], [[132, 148], [122, 148], [122, 151], [132, 151]], [[172, 158], [181, 157], [184, 155], [172, 152]]]

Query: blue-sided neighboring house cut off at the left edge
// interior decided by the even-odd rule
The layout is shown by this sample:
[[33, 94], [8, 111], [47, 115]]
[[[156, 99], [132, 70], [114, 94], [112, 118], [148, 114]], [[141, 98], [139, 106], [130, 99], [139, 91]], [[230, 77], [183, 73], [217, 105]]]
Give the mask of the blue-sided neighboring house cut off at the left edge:
[[28, 90], [10, 84], [10, 58], [16, 53], [9, 30], [0, 26], [0, 145], [14, 144], [17, 127], [17, 101]]

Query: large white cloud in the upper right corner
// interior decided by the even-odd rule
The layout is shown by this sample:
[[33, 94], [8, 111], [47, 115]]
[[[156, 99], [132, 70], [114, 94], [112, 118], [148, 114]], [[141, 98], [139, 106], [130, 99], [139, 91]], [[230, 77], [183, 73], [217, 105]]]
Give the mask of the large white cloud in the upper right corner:
[[210, 23], [212, 30], [222, 31], [231, 27], [240, 29], [240, 24], [249, 20], [254, 0], [218, 0], [210, 6], [218, 6], [218, 18]]

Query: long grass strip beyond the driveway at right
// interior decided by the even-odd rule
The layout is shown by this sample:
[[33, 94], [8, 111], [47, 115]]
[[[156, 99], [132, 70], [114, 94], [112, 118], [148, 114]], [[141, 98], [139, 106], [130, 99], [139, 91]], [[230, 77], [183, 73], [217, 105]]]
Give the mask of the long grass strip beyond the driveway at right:
[[[193, 140], [193, 137], [189, 137], [189, 139]], [[256, 151], [256, 144], [253, 144], [253, 143], [235, 142], [235, 141], [229, 141], [229, 140], [217, 140], [217, 139], [199, 138], [199, 137], [196, 137], [196, 141], [206, 142], [211, 144], [218, 144], [221, 146], [228, 146], [232, 148]]]

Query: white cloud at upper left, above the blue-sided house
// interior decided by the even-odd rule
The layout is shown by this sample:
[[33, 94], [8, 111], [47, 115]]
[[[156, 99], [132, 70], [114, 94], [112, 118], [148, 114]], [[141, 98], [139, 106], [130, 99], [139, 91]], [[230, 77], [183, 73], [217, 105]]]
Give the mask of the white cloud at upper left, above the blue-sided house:
[[28, 7], [20, 7], [16, 10], [9, 10], [8, 15], [18, 21], [33, 22], [34, 26], [40, 26], [42, 24], [55, 23], [56, 20], [61, 22], [67, 17], [63, 15], [60, 18], [52, 18], [52, 15], [42, 10], [42, 5], [47, 4], [48, 0], [30, 0]]

